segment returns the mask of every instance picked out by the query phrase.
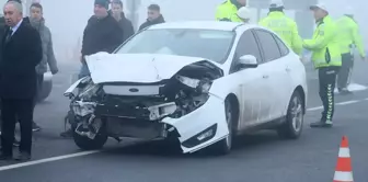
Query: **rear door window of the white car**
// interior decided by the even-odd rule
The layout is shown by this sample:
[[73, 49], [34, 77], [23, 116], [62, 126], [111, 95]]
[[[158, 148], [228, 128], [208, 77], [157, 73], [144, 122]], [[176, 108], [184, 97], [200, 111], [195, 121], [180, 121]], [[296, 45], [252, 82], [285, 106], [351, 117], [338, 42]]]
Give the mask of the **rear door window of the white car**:
[[272, 33], [261, 30], [257, 30], [255, 32], [261, 43], [265, 61], [272, 61], [280, 58], [281, 57], [280, 50]]

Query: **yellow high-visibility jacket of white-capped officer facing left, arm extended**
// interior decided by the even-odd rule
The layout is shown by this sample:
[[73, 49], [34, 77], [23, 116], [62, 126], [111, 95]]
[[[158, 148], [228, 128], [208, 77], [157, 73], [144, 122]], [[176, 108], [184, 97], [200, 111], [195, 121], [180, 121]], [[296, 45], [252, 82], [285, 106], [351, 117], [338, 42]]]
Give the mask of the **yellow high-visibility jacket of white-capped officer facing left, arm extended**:
[[336, 23], [330, 15], [317, 22], [312, 39], [304, 39], [303, 47], [312, 52], [314, 68], [342, 66]]

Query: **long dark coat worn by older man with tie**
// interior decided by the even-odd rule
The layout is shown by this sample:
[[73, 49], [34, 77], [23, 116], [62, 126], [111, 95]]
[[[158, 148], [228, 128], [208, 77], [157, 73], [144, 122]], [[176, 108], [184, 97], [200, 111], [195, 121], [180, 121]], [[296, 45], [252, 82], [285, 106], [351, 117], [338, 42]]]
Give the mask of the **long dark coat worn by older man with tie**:
[[5, 29], [1, 39], [0, 96], [3, 99], [33, 99], [36, 94], [35, 67], [43, 57], [38, 32], [23, 20], [9, 42]]

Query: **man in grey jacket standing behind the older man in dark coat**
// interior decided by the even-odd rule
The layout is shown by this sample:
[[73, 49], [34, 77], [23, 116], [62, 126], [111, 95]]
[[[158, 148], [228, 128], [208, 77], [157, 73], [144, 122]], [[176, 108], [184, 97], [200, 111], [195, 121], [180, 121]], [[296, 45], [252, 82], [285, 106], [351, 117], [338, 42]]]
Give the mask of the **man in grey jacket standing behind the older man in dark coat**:
[[[43, 18], [43, 7], [39, 3], [33, 3], [30, 8], [30, 23], [39, 32], [43, 43], [43, 59], [36, 67], [37, 73], [37, 93], [42, 90], [44, 82], [44, 73], [47, 72], [47, 65], [50, 68], [53, 75], [58, 72], [58, 67], [53, 48], [53, 38], [50, 30], [45, 26], [45, 19]], [[37, 95], [37, 94], [36, 94]], [[36, 106], [37, 96], [35, 96], [34, 106]], [[33, 132], [39, 130], [41, 127], [33, 122]]]

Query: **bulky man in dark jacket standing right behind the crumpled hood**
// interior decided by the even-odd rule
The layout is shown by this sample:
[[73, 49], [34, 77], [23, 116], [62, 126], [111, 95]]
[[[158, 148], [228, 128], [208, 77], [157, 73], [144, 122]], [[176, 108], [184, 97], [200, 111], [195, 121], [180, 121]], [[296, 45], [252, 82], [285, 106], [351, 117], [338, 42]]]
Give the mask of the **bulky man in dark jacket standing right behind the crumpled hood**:
[[[116, 20], [107, 12], [110, 0], [94, 1], [94, 15], [90, 18], [83, 32], [81, 62], [82, 68], [79, 78], [90, 75], [84, 56], [99, 52], [113, 53], [123, 44], [122, 29]], [[62, 132], [61, 137], [70, 137], [71, 129]]]

